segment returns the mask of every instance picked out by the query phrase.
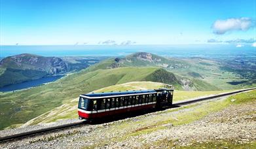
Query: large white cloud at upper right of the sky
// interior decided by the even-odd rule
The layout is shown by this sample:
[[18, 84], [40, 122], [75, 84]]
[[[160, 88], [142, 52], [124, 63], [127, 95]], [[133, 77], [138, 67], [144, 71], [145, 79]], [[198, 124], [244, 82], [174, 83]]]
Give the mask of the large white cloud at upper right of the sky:
[[247, 31], [253, 27], [251, 18], [229, 18], [227, 20], [216, 20], [213, 25], [213, 33], [225, 34], [228, 31]]

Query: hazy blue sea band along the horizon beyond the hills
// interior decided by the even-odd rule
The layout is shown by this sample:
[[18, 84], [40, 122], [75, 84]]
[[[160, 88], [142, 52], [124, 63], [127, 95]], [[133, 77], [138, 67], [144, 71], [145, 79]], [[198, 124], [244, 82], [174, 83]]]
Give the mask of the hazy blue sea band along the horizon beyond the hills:
[[182, 44], [182, 45], [60, 45], [60, 46], [0, 46], [0, 57], [17, 54], [40, 56], [126, 56], [134, 52], [151, 52], [170, 57], [219, 58], [230, 56], [255, 56], [256, 48], [234, 44]]

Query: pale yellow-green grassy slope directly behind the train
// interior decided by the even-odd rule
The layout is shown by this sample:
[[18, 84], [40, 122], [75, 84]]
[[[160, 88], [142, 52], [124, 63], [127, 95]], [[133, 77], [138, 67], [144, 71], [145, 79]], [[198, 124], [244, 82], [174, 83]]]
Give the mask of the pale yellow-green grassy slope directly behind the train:
[[[165, 87], [166, 84], [160, 82], [128, 82], [124, 84], [117, 84], [113, 86], [108, 86], [106, 88], [101, 88], [100, 90], [95, 90], [95, 93], [107, 92], [107, 91], [126, 91], [126, 90], [150, 90]], [[178, 91], [174, 92], [174, 102], [181, 101], [184, 99], [191, 99], [194, 97], [200, 97], [205, 95], [214, 95], [218, 93], [223, 93], [225, 91]], [[60, 107], [54, 108], [32, 120], [29, 120], [24, 125], [34, 125], [43, 124], [48, 122], [56, 122], [62, 119], [76, 119], [77, 115], [77, 102], [78, 97], [72, 99], [70, 102], [64, 103]]]

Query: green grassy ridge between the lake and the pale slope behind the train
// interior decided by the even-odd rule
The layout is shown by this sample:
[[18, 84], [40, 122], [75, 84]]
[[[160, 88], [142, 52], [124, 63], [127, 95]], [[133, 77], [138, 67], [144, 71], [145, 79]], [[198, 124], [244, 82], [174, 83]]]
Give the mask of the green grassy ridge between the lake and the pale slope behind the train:
[[[158, 80], [156, 78], [158, 72], [165, 76], [173, 76], [172, 73], [154, 67], [100, 69], [89, 73], [81, 71], [70, 74], [56, 82], [29, 90], [0, 93], [0, 129], [27, 122], [27, 120], [71, 101], [81, 93], [126, 82]], [[175, 78], [172, 77], [165, 79], [160, 81], [175, 81]]]

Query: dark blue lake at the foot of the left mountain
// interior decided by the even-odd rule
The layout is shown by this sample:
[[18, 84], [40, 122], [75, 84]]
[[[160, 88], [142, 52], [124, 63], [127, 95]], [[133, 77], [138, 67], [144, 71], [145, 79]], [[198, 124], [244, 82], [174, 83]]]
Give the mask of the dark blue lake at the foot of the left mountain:
[[21, 89], [25, 89], [25, 88], [31, 88], [34, 86], [40, 86], [41, 84], [45, 84], [48, 82], [53, 82], [55, 80], [58, 80], [59, 78], [62, 78], [62, 76], [64, 76], [64, 75], [48, 76], [45, 78], [29, 80], [29, 81], [18, 83], [18, 84], [10, 84], [8, 86], [1, 87], [0, 91], [14, 91], [14, 90], [21, 90]]

